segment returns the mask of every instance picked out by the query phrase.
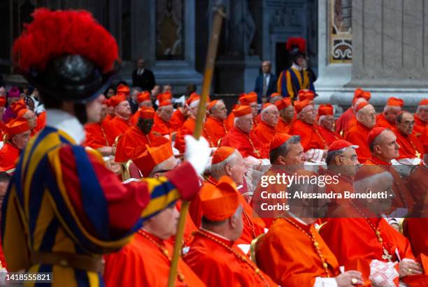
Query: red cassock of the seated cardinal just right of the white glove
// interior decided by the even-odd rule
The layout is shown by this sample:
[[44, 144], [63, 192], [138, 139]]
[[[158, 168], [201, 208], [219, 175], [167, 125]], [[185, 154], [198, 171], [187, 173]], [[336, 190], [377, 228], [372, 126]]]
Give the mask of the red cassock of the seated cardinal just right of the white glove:
[[241, 152], [244, 158], [247, 156], [254, 156], [256, 159], [269, 158], [269, 154], [263, 153], [262, 142], [252, 131], [250, 134], [244, 133], [236, 126], [224, 136], [220, 146], [234, 147]]

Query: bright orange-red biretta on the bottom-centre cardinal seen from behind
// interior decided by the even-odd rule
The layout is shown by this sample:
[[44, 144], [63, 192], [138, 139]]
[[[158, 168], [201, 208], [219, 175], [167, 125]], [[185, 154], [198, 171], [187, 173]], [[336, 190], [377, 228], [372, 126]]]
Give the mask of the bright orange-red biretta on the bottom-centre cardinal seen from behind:
[[235, 214], [239, 206], [235, 182], [221, 177], [216, 186], [205, 184], [199, 191], [202, 215], [210, 221], [224, 221]]

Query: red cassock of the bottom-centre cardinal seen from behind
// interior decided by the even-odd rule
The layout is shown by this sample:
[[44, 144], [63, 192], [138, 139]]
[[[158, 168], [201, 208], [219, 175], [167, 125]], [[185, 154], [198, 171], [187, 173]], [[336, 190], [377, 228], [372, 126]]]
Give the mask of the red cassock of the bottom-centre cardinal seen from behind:
[[[206, 230], [203, 230], [207, 233]], [[183, 257], [187, 265], [192, 268], [206, 286], [277, 286], [263, 272], [255, 272], [257, 266], [245, 256], [234, 242], [208, 233], [218, 242], [222, 242], [233, 249], [234, 252], [214, 240], [197, 233], [190, 244], [189, 252]], [[241, 258], [245, 258], [242, 260]]]

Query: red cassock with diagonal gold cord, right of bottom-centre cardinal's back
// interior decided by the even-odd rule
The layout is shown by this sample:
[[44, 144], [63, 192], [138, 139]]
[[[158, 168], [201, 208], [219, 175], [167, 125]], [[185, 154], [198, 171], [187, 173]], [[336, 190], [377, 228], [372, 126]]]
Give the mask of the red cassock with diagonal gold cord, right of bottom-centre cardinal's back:
[[[309, 234], [318, 242], [327, 270], [323, 267]], [[340, 274], [336, 257], [313, 224], [304, 225], [292, 218], [276, 219], [269, 232], [257, 244], [256, 258], [260, 269], [280, 286], [313, 286], [316, 277], [336, 277]]]

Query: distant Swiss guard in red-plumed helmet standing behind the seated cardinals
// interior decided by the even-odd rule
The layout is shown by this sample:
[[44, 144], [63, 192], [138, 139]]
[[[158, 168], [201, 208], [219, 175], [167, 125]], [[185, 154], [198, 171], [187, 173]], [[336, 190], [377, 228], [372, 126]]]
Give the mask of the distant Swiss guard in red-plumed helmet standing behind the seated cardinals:
[[293, 59], [292, 66], [280, 73], [278, 77], [278, 93], [297, 100], [301, 89], [309, 89], [315, 93], [313, 75], [307, 66], [306, 41], [304, 38], [288, 38], [287, 52]]

